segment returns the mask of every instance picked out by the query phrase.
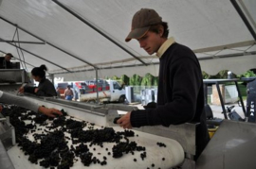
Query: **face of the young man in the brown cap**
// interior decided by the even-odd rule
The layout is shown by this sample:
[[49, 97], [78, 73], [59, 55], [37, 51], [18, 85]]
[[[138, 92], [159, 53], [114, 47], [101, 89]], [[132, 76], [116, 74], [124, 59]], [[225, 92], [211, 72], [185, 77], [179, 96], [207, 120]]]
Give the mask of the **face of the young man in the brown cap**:
[[155, 32], [148, 31], [142, 38], [137, 39], [141, 48], [143, 48], [149, 55], [157, 52], [162, 44], [162, 38]]

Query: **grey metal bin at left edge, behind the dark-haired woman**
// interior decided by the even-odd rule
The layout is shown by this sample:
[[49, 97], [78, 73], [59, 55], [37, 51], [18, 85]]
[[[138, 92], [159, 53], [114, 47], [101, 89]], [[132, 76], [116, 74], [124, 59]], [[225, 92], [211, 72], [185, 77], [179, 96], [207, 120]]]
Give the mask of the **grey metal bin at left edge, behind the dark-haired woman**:
[[27, 72], [22, 69], [1, 69], [0, 83], [28, 83]]

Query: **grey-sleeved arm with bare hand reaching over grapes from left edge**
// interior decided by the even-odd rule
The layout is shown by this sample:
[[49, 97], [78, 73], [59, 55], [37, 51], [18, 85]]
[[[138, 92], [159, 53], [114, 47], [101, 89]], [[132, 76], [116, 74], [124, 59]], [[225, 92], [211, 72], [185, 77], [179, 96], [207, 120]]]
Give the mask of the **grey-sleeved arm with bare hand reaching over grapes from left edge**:
[[[0, 91], [0, 103], [6, 104], [15, 104], [20, 107], [26, 108], [27, 110], [33, 110], [35, 112], [41, 112], [46, 114], [49, 117], [55, 117], [56, 115], [63, 115], [62, 111], [56, 109], [48, 109], [43, 106], [38, 106], [37, 104], [27, 100], [26, 98], [22, 98], [16, 95], [12, 95], [9, 93], [4, 93]], [[2, 106], [0, 105], [0, 112], [2, 111]]]

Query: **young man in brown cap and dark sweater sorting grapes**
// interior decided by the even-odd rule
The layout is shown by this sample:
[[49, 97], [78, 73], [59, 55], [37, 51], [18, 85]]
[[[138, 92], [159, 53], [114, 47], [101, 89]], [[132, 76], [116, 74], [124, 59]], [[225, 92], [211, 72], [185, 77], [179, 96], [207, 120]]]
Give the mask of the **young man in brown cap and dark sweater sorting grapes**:
[[209, 142], [204, 112], [204, 90], [201, 68], [192, 50], [167, 38], [168, 25], [154, 9], [141, 8], [133, 17], [132, 30], [125, 39], [136, 39], [149, 55], [159, 58], [157, 106], [133, 110], [118, 120], [120, 127], [142, 127], [200, 123], [196, 128], [196, 155]]

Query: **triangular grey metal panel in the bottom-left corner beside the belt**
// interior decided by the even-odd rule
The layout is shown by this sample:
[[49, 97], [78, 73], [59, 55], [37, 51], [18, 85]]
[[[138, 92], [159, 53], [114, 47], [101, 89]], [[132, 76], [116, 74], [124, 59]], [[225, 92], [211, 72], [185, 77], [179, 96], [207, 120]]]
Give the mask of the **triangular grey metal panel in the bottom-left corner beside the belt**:
[[14, 169], [12, 162], [9, 159], [9, 155], [0, 140], [0, 168], [1, 169]]

